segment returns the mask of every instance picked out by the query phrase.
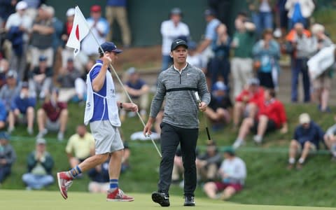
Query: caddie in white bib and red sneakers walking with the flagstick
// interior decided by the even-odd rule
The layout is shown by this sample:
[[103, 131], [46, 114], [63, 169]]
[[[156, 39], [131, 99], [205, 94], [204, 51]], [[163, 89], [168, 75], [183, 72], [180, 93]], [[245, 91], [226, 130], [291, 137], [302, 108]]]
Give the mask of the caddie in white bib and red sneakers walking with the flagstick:
[[[68, 198], [67, 190], [73, 179], [97, 165], [101, 165], [110, 158], [109, 178], [110, 188], [107, 192], [107, 201], [130, 202], [134, 198], [125, 195], [118, 186], [121, 161], [124, 146], [120, 138], [118, 127], [120, 120], [119, 109], [138, 111], [138, 106], [133, 103], [122, 103], [116, 100], [116, 89], [110, 73], [110, 64], [114, 64], [118, 54], [122, 52], [112, 42], [105, 42], [99, 48], [99, 59], [87, 74], [87, 101], [85, 106], [84, 123], [90, 123], [90, 128], [95, 141], [95, 155], [85, 159], [68, 172], [57, 173], [59, 190]], [[102, 51], [103, 50], [103, 51]]]

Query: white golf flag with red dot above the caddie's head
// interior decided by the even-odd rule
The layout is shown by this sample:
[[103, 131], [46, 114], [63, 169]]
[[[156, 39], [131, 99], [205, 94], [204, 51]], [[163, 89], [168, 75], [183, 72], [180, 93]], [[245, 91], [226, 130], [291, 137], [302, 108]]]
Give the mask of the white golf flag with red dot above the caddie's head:
[[80, 50], [80, 41], [82, 41], [87, 34], [89, 34], [89, 27], [83, 13], [80, 11], [79, 7], [76, 6], [71, 33], [68, 42], [66, 43], [66, 46], [74, 49], [73, 55], [75, 57]]

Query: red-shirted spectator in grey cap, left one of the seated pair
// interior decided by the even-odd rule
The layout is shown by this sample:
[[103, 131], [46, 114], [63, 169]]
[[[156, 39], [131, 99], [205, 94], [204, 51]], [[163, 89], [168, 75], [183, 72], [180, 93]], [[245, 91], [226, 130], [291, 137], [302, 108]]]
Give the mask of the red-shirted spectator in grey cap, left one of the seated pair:
[[233, 129], [237, 130], [241, 116], [254, 118], [258, 104], [264, 100], [264, 89], [259, 86], [257, 78], [248, 80], [247, 87], [235, 99], [233, 108]]

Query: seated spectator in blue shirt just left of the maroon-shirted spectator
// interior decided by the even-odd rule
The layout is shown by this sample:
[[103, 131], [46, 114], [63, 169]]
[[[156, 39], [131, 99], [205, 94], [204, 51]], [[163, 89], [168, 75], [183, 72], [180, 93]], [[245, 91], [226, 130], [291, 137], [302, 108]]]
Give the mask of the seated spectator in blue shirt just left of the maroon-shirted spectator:
[[27, 122], [27, 132], [29, 135], [34, 133], [34, 107], [36, 105], [36, 99], [29, 96], [29, 85], [27, 82], [22, 83], [20, 94], [16, 95], [13, 99], [12, 106], [8, 116], [8, 132], [13, 132], [15, 121]]

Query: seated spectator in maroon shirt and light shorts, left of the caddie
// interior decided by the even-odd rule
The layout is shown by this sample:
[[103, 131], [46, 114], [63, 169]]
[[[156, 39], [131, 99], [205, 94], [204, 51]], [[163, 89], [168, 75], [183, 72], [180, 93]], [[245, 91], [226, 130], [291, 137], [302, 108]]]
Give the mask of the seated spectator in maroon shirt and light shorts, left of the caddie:
[[48, 130], [58, 131], [57, 139], [64, 139], [64, 131], [68, 121], [68, 109], [65, 102], [58, 101], [59, 91], [53, 89], [51, 95], [45, 98], [41, 109], [37, 111], [38, 135], [42, 138]]

